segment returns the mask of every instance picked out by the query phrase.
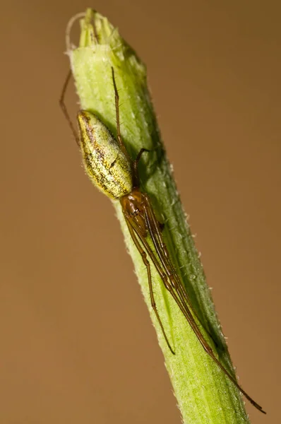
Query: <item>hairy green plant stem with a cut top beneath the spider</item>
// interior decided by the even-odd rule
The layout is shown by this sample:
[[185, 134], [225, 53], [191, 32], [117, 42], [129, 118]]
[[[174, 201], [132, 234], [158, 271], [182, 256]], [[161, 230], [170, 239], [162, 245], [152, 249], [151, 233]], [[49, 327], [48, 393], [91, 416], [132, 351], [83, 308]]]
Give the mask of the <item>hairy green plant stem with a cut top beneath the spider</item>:
[[[205, 328], [213, 334], [218, 348], [202, 330], [203, 334], [217, 358], [234, 375], [201, 261], [162, 146], [148, 93], [145, 66], [107, 18], [88, 9], [85, 19], [80, 21], [80, 28], [80, 45], [78, 48], [68, 46], [68, 54], [81, 108], [97, 114], [116, 136], [111, 74], [113, 66], [120, 95], [121, 136], [132, 158], [136, 157], [140, 148], [156, 148], [153, 153], [145, 153], [141, 160], [141, 187], [152, 199], [157, 216], [165, 220], [163, 235], [169, 253], [194, 309]], [[150, 305], [145, 266], [128, 234], [119, 202], [114, 202], [114, 207], [157, 332], [184, 423], [249, 423], [241, 394], [205, 353], [153, 267], [157, 309], [176, 355], [169, 351]], [[119, 278], [118, 275], [116, 278]], [[121, 284], [121, 281], [118, 283]]]

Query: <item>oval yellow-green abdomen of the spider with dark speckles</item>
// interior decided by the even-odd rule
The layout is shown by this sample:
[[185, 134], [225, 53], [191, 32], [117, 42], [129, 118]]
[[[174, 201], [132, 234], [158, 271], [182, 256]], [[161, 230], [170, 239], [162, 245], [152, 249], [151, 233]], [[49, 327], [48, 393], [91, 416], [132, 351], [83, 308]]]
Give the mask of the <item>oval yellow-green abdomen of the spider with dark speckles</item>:
[[95, 186], [112, 199], [120, 199], [133, 188], [131, 163], [107, 126], [95, 114], [77, 115], [80, 148], [85, 170]]

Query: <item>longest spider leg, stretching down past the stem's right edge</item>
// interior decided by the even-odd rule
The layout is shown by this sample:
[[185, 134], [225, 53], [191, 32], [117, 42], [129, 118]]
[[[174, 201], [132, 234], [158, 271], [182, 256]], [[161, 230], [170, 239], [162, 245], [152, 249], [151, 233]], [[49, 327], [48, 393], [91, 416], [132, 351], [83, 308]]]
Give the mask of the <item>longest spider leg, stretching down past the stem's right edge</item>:
[[152, 249], [148, 245], [148, 242], [145, 240], [145, 237], [142, 237], [140, 235], [140, 232], [138, 231], [138, 228], [134, 228], [134, 230], [138, 234], [138, 237], [140, 237], [140, 240], [143, 243], [143, 246], [145, 247], [145, 249], [147, 250], [150, 259], [153, 261], [153, 264], [155, 265], [155, 268], [157, 269], [157, 272], [159, 273], [160, 278], [162, 279], [162, 281], [163, 281], [163, 283], [165, 285], [165, 288], [167, 288], [167, 290], [169, 291], [169, 293], [171, 293], [172, 297], [174, 298], [175, 302], [177, 302], [177, 305], [179, 306], [179, 309], [184, 314], [184, 317], [186, 318], [186, 320], [189, 322], [189, 325], [191, 326], [192, 330], [196, 334], [196, 336], [198, 338], [198, 341], [200, 341], [201, 345], [203, 346], [204, 351], [206, 353], [208, 353], [208, 355], [210, 356], [210, 358], [212, 358], [213, 361], [218, 365], [218, 367], [220, 367], [220, 369], [222, 370], [222, 372], [224, 372], [225, 375], [227, 375], [227, 377], [229, 378], [229, 380], [237, 387], [237, 389], [239, 389], [239, 391], [241, 391], [241, 393], [244, 394], [244, 396], [246, 397], [246, 399], [248, 399], [251, 402], [251, 404], [253, 406], [255, 406], [259, 411], [261, 411], [262, 413], [265, 413], [265, 411], [263, 411], [262, 406], [258, 405], [251, 398], [251, 396], [249, 396], [249, 394], [247, 394], [246, 391], [244, 391], [244, 389], [242, 389], [242, 387], [237, 383], [237, 381], [234, 379], [234, 377], [232, 377], [232, 375], [220, 363], [220, 361], [217, 360], [217, 358], [215, 357], [215, 354], [213, 353], [212, 348], [210, 348], [210, 346], [208, 345], [207, 341], [205, 341], [205, 338], [202, 336], [201, 331], [198, 329], [198, 325], [194, 321], [193, 316], [192, 316], [189, 308], [187, 307], [186, 304], [182, 304], [182, 302], [177, 297], [177, 292], [174, 293], [174, 287], [167, 282], [167, 276], [166, 276], [165, 273], [163, 273], [160, 265], [157, 262], [157, 259], [155, 258], [155, 254], [153, 253]]

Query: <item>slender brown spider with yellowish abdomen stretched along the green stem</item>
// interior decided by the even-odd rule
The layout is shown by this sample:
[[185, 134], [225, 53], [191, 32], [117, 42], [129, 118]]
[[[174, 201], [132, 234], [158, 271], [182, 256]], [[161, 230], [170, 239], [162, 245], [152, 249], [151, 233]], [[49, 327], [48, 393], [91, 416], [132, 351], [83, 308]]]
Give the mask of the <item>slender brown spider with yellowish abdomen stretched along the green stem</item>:
[[[175, 355], [155, 303], [153, 281], [151, 278], [151, 264], [155, 266], [165, 288], [170, 295], [172, 295], [172, 298], [177, 303], [182, 314], [184, 314], [186, 321], [189, 322], [191, 329], [196, 334], [204, 351], [213, 359], [217, 366], [220, 367], [220, 370], [225, 373], [239, 391], [244, 394], [246, 399], [248, 399], [259, 411], [265, 413], [263, 408], [241, 388], [236, 379], [232, 377], [222, 363], [215, 357], [213, 349], [201, 333], [199, 324], [201, 324], [201, 326], [203, 326], [203, 324], [191, 305], [186, 289], [181, 283], [165, 245], [165, 240], [162, 235], [163, 224], [157, 220], [148, 194], [140, 190], [138, 163], [143, 153], [150, 151], [146, 148], [141, 148], [136, 159], [132, 160], [121, 138], [119, 93], [116, 87], [113, 67], [112, 81], [116, 109], [116, 139], [112, 136], [109, 129], [107, 129], [107, 126], [105, 126], [95, 114], [87, 110], [80, 110], [77, 114], [80, 137], [78, 136], [64, 102], [70, 77], [71, 71], [68, 73], [59, 100], [61, 109], [64, 112], [64, 116], [73, 131], [76, 143], [83, 155], [83, 163], [88, 176], [95, 186], [109, 196], [109, 198], [120, 201], [128, 231], [147, 270], [150, 302], [169, 350]], [[150, 247], [148, 237], [150, 237], [150, 240], [153, 242], [155, 252]], [[207, 330], [205, 331], [208, 332]], [[208, 334], [210, 335], [210, 333]], [[210, 337], [212, 336], [210, 335]]]

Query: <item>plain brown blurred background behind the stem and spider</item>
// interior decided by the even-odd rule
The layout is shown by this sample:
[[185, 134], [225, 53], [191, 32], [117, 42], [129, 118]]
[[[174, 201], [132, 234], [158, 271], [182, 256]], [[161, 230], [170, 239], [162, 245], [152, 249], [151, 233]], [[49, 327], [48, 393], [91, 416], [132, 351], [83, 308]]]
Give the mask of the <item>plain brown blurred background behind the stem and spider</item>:
[[119, 223], [59, 110], [66, 23], [86, 6], [148, 65], [240, 382], [268, 416], [247, 411], [277, 423], [281, 7], [253, 0], [2, 4], [0, 423], [181, 423]]

